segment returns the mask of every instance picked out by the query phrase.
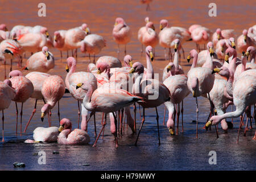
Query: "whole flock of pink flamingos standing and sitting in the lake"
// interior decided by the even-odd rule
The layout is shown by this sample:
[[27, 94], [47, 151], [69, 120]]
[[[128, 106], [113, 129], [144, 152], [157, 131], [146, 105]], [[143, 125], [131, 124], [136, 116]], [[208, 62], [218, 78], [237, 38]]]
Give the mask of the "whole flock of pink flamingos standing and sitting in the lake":
[[[164, 104], [168, 110], [167, 127], [171, 135], [178, 134], [179, 117], [183, 130], [183, 100], [190, 93], [196, 101], [196, 137], [198, 137], [199, 107], [197, 97], [203, 96], [210, 102], [210, 114], [205, 129], [214, 126], [218, 137], [216, 125], [221, 123], [225, 133], [233, 124], [226, 122], [226, 118], [240, 118], [240, 126], [245, 125], [246, 130], [252, 129], [256, 104], [256, 25], [248, 30], [243, 30], [235, 42], [234, 30], [217, 30], [212, 33], [208, 28], [193, 24], [189, 29], [171, 27], [168, 21], [160, 21], [159, 35], [150, 19], [145, 19], [146, 26], [138, 31], [138, 40], [142, 44], [142, 52], [145, 50], [147, 67], [142, 63], [133, 63], [132, 57], [126, 55], [123, 65], [116, 57], [101, 56], [95, 64], [95, 55], [106, 46], [104, 38], [97, 34], [91, 34], [87, 24], [69, 30], [54, 32], [54, 38], [48, 34], [43, 26], [15, 26], [9, 32], [5, 24], [0, 25], [0, 59], [5, 64], [5, 80], [0, 81], [0, 110], [2, 110], [2, 141], [4, 141], [4, 115], [3, 112], [10, 106], [11, 101], [16, 105], [16, 134], [18, 128], [18, 106], [20, 111], [20, 135], [22, 134], [22, 110], [23, 103], [28, 98], [35, 98], [35, 107], [27, 123], [27, 127], [36, 112], [38, 100], [43, 100], [41, 119], [47, 116], [49, 127], [38, 127], [34, 130], [34, 140], [26, 140], [26, 143], [34, 142], [58, 142], [59, 144], [86, 144], [90, 137], [87, 134], [87, 124], [91, 117], [94, 118], [95, 135], [97, 140], [104, 133], [106, 114], [110, 118], [110, 130], [115, 137], [115, 145], [118, 147], [118, 132], [122, 134], [124, 115], [127, 125], [137, 133], [136, 112], [137, 106], [142, 106], [142, 122], [139, 128], [135, 145], [145, 121], [145, 108], [154, 107], [159, 137], [159, 115], [157, 107]], [[113, 38], [118, 44], [130, 42], [131, 29], [122, 18], [115, 19]], [[183, 44], [188, 41], [196, 43], [196, 49], [192, 49], [187, 60], [193, 59], [191, 69], [185, 75], [179, 65], [179, 59], [183, 52]], [[163, 80], [154, 79], [154, 47], [160, 44], [165, 49], [165, 57], [170, 60], [163, 71]], [[146, 47], [146, 49], [143, 48]], [[205, 47], [206, 46], [206, 47]], [[60, 51], [61, 59], [63, 51], [67, 51], [67, 76], [65, 80], [57, 75], [49, 75], [50, 69], [55, 67], [55, 59], [48, 47], [54, 47]], [[204, 47], [204, 48], [202, 48]], [[93, 63], [88, 65], [88, 72], [76, 72], [77, 48], [81, 52], [94, 55]], [[72, 57], [68, 56], [72, 52]], [[26, 65], [22, 66], [24, 53], [31, 53]], [[241, 57], [237, 57], [238, 52]], [[174, 59], [172, 57], [174, 56]], [[185, 57], [185, 56], [184, 56]], [[9, 79], [6, 79], [6, 60], [18, 59], [18, 66], [23, 71], [30, 71], [26, 76], [19, 70], [12, 71], [10, 67]], [[173, 61], [172, 61], [173, 60]], [[1, 76], [3, 78], [3, 76]], [[59, 101], [64, 93], [70, 93], [78, 104], [78, 123], [81, 129], [72, 130], [72, 122], [60, 119]], [[157, 95], [152, 99], [151, 96]], [[51, 127], [51, 109], [57, 104], [60, 127]], [[181, 111], [180, 111], [181, 104]], [[130, 105], [134, 105], [134, 118], [130, 113]], [[229, 105], [235, 105], [236, 110], [226, 113]], [[254, 107], [251, 113], [251, 106]], [[81, 109], [80, 109], [81, 107]], [[81, 110], [81, 112], [80, 112]], [[90, 114], [88, 113], [90, 111]], [[102, 113], [101, 131], [97, 135], [95, 113]], [[166, 110], [164, 111], [164, 115]], [[243, 118], [247, 117], [246, 124]], [[104, 119], [105, 118], [105, 119]], [[176, 132], [175, 132], [176, 118]], [[250, 123], [249, 123], [250, 122]], [[250, 124], [250, 126], [249, 126]], [[256, 132], [254, 138], [256, 139]], [[237, 138], [238, 142], [238, 138]]]

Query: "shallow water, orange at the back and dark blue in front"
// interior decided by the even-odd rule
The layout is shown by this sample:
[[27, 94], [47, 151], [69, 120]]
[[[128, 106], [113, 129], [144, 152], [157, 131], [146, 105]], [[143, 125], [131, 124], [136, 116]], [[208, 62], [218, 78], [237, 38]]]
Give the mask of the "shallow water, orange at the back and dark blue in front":
[[[35, 26], [41, 24], [48, 27], [49, 33], [53, 35], [55, 30], [68, 29], [88, 23], [93, 33], [104, 36], [107, 47], [100, 55], [117, 56], [117, 45], [112, 38], [112, 28], [117, 16], [121, 16], [133, 30], [133, 38], [127, 45], [127, 53], [134, 60], [141, 61], [146, 65], [146, 59], [141, 56], [141, 44], [137, 40], [137, 31], [144, 26], [145, 16], [149, 16], [154, 22], [156, 31], [159, 32], [160, 19], [168, 19], [171, 26], [188, 28], [191, 24], [198, 23], [215, 31], [220, 28], [234, 28], [236, 36], [241, 35], [244, 28], [253, 26], [255, 22], [256, 2], [251, 1], [216, 1], [217, 17], [208, 16], [208, 5], [210, 1], [153, 1], [151, 11], [146, 12], [146, 6], [139, 1], [44, 1], [47, 6], [47, 16], [40, 18], [38, 14], [38, 3], [40, 1], [1, 1], [0, 22], [6, 23], [11, 29], [16, 24]], [[231, 5], [231, 6], [230, 6]], [[230, 8], [232, 7], [232, 8]], [[123, 46], [119, 59], [122, 59]], [[195, 43], [184, 44], [185, 55], [189, 50], [195, 48]], [[164, 51], [160, 46], [156, 47], [156, 56], [153, 61], [154, 72], [160, 73], [168, 61], [164, 60]], [[55, 55], [55, 69], [50, 74], [60, 75], [65, 78], [65, 60], [60, 61], [59, 51], [51, 48]], [[69, 55], [71, 53], [69, 52]], [[28, 55], [27, 55], [28, 56]], [[240, 55], [238, 55], [240, 56]], [[65, 57], [65, 53], [64, 53]], [[24, 59], [24, 62], [26, 59]], [[8, 61], [7, 61], [8, 62]], [[135, 62], [135, 61], [134, 61]], [[79, 52], [77, 71], [87, 71], [88, 57]], [[9, 62], [8, 62], [9, 64]], [[181, 56], [181, 66], [188, 72], [191, 64]], [[15, 68], [16, 69], [16, 62]], [[0, 65], [0, 79], [3, 80], [3, 65]], [[7, 66], [9, 73], [9, 65]], [[27, 72], [24, 72], [26, 75]], [[30, 99], [24, 103], [22, 131], [34, 108], [34, 100]], [[34, 115], [26, 134], [22, 137], [15, 135], [15, 104], [5, 110], [5, 143], [0, 143], [0, 169], [14, 169], [13, 163], [23, 162], [26, 168], [35, 170], [255, 170], [256, 142], [252, 140], [253, 130], [247, 131], [246, 137], [241, 134], [240, 143], [236, 143], [238, 118], [234, 119], [234, 128], [228, 134], [218, 127], [219, 137], [216, 139], [214, 127], [205, 132], [202, 127], [209, 114], [209, 101], [199, 98], [199, 139], [196, 139], [195, 98], [189, 95], [184, 100], [184, 132], [179, 135], [170, 136], [166, 126], [162, 125], [164, 107], [159, 106], [160, 140], [158, 145], [158, 134], [155, 121], [155, 109], [146, 109], [146, 122], [143, 125], [138, 146], [134, 146], [136, 135], [132, 135], [130, 129], [123, 136], [119, 136], [119, 147], [115, 149], [114, 137], [109, 130], [109, 121], [106, 125], [104, 140], [98, 140], [97, 147], [92, 147], [95, 141], [94, 127], [89, 122], [88, 133], [91, 138], [89, 145], [85, 146], [59, 146], [56, 143], [25, 144], [25, 139], [32, 139], [32, 131], [38, 126], [48, 126], [47, 119], [40, 121], [40, 109], [43, 102], [38, 102], [38, 110]], [[18, 104], [20, 112], [20, 104]], [[131, 107], [131, 109], [133, 109]], [[137, 130], [141, 125], [137, 108]], [[229, 109], [230, 110], [230, 109]], [[228, 110], [228, 111], [229, 111]], [[77, 101], [68, 94], [60, 100], [61, 118], [69, 118], [73, 121], [73, 128], [77, 127]], [[132, 112], [133, 114], [133, 112]], [[101, 114], [97, 114], [97, 132], [100, 131]], [[166, 119], [167, 121], [167, 119]], [[228, 119], [230, 121], [230, 119]], [[57, 107], [52, 109], [52, 126], [58, 126]], [[19, 131], [20, 124], [18, 124]], [[243, 130], [242, 130], [243, 131]], [[2, 132], [2, 131], [1, 131]], [[39, 156], [32, 155], [34, 152], [45, 151], [47, 154], [46, 165], [39, 165]], [[53, 155], [52, 151], [60, 154]], [[209, 151], [217, 152], [217, 165], [209, 165]], [[89, 164], [83, 166], [84, 164]], [[16, 169], [18, 170], [18, 169]]]

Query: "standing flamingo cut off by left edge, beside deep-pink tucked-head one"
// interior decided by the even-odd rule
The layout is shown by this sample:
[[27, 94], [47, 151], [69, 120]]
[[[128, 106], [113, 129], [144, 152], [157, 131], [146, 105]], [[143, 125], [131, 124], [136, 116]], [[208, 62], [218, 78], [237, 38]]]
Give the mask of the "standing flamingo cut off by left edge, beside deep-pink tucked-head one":
[[[7, 109], [11, 101], [14, 99], [16, 92], [11, 85], [10, 80], [0, 81], [0, 110], [2, 110], [2, 122], [5, 122], [5, 116], [3, 115], [3, 110]], [[3, 137], [3, 123], [2, 123], [2, 137]], [[5, 142], [5, 139], [2, 138], [2, 142]]]

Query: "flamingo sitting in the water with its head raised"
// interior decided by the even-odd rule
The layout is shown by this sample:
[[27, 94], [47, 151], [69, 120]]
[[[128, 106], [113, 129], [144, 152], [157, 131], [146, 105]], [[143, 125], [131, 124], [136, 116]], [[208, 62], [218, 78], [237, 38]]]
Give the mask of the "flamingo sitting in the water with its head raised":
[[67, 118], [61, 119], [60, 134], [57, 137], [59, 144], [88, 144], [90, 142], [90, 137], [85, 130], [75, 129], [71, 131], [71, 129], [71, 121]]

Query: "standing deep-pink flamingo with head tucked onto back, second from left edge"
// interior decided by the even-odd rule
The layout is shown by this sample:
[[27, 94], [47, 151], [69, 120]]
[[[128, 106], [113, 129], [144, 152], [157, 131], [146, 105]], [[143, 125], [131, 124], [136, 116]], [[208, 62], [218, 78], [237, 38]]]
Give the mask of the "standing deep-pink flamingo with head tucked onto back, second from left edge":
[[22, 73], [18, 70], [11, 71], [9, 73], [11, 85], [15, 89], [15, 97], [13, 101], [16, 105], [16, 134], [18, 127], [18, 106], [17, 102], [21, 102], [21, 111], [20, 111], [20, 136], [22, 135], [22, 111], [23, 111], [23, 102], [26, 102], [28, 98], [31, 97], [34, 92], [34, 86], [28, 78], [22, 76]]

